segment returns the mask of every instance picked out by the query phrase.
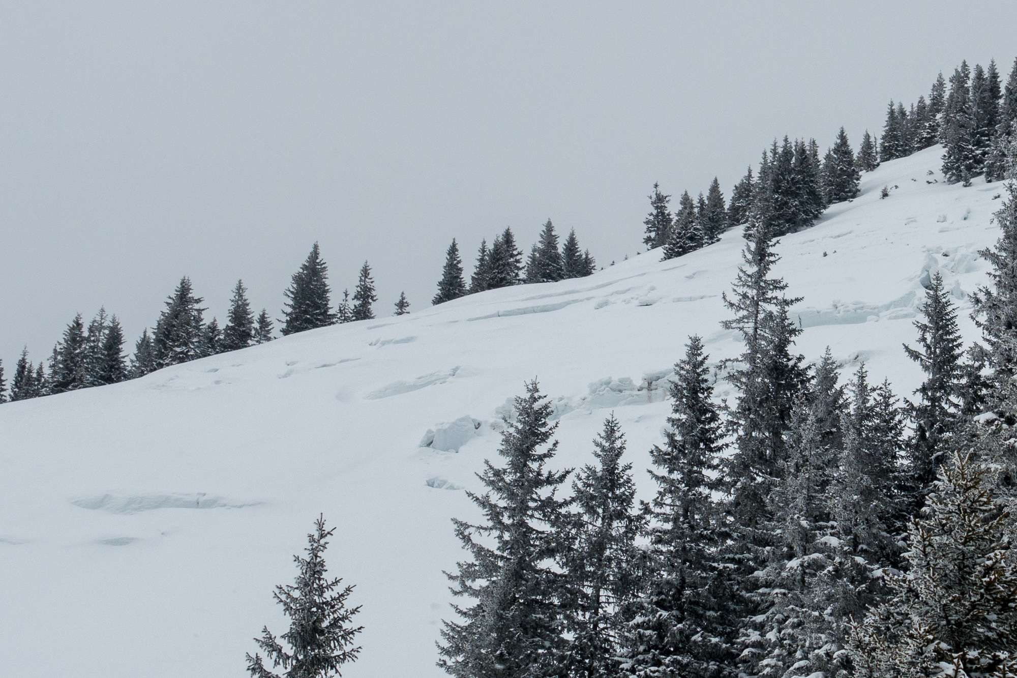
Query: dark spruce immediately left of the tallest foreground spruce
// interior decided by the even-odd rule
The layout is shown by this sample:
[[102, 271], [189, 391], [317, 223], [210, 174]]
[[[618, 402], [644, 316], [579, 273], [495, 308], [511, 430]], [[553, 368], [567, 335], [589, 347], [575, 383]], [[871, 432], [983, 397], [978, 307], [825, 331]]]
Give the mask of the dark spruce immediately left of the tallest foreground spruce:
[[725, 529], [711, 497], [723, 436], [707, 359], [690, 337], [674, 366], [664, 445], [650, 451], [657, 495], [644, 507], [653, 522], [624, 631], [625, 677], [731, 675], [734, 591], [718, 559]]

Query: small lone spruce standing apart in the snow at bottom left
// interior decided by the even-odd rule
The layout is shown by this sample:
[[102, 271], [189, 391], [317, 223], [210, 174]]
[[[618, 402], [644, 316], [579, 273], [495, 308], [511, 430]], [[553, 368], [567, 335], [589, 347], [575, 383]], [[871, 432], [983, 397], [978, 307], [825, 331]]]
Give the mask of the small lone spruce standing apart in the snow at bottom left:
[[[324, 551], [336, 528], [324, 528], [324, 517], [314, 521], [314, 531], [307, 535], [306, 557], [294, 556], [299, 570], [293, 584], [276, 586], [276, 602], [290, 618], [290, 629], [277, 638], [265, 626], [260, 638], [254, 638], [265, 654], [247, 655], [247, 671], [252, 678], [328, 678], [342, 676], [340, 668], [353, 663], [360, 654], [354, 638], [363, 626], [353, 626], [360, 606], [346, 607], [352, 585], [340, 587], [343, 580], [325, 574]], [[286, 643], [283, 645], [282, 640]], [[288, 648], [287, 648], [288, 646]], [[277, 674], [265, 668], [272, 660]]]

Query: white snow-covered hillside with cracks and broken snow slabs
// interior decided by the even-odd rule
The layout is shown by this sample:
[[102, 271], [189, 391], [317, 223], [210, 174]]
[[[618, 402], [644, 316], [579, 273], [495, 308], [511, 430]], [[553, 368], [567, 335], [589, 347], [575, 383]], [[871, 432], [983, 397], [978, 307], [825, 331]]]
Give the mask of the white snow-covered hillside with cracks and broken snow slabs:
[[[913, 341], [921, 283], [942, 272], [967, 307], [1003, 190], [948, 186], [941, 153], [865, 174], [858, 199], [783, 238], [775, 273], [804, 297], [795, 313], [807, 358], [829, 345], [846, 372], [864, 360], [898, 393], [919, 383], [901, 343]], [[443, 675], [441, 570], [462, 556], [448, 518], [475, 515], [461, 489], [478, 488], [506, 399], [539, 379], [557, 406], [559, 466], [589, 459], [613, 410], [648, 496], [642, 469], [669, 409], [662, 378], [687, 335], [705, 338], [712, 360], [739, 351], [718, 323], [741, 244], [733, 231], [678, 260], [649, 252], [581, 280], [3, 405], [2, 673], [245, 675], [251, 638], [263, 624], [284, 628], [272, 587], [292, 580], [291, 555], [323, 512], [338, 527], [332, 571], [357, 585], [366, 627], [344, 675]]]

